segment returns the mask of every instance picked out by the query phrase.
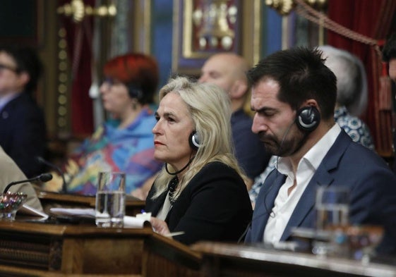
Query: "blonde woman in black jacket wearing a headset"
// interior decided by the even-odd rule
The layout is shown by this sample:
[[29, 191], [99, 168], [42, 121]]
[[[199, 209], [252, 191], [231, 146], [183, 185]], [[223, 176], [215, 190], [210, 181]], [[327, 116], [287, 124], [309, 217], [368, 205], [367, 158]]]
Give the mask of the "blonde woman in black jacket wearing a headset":
[[174, 239], [236, 241], [251, 221], [246, 176], [234, 157], [229, 97], [210, 84], [175, 78], [160, 90], [152, 129], [164, 168], [146, 199], [160, 234]]

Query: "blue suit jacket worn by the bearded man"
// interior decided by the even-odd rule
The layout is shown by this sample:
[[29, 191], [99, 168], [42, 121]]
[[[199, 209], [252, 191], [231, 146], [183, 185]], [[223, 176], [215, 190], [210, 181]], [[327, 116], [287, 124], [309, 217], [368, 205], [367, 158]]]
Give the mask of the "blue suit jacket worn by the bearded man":
[[[265, 180], [256, 201], [251, 228], [245, 242], [263, 241], [269, 212], [284, 180], [285, 176], [276, 169]], [[294, 227], [315, 228], [317, 187], [337, 185], [347, 186], [351, 190], [350, 223], [384, 226], [386, 233], [378, 250], [383, 253], [395, 253], [396, 176], [380, 156], [361, 144], [352, 142], [344, 130], [308, 183], [281, 240], [291, 240]]]

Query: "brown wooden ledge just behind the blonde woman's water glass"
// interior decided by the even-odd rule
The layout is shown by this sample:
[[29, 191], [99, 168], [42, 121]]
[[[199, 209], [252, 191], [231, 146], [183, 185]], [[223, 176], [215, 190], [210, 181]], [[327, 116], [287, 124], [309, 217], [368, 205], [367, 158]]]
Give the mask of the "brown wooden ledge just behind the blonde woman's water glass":
[[[52, 207], [87, 207], [95, 208], [95, 196], [73, 195], [56, 192], [37, 192], [44, 211], [48, 214]], [[145, 201], [132, 195], [126, 196], [125, 213], [127, 216], [136, 216], [145, 207]]]

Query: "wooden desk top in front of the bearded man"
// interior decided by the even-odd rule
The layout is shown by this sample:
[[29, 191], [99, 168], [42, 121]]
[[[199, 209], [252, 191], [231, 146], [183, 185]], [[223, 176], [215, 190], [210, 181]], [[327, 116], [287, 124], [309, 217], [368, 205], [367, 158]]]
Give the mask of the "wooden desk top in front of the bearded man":
[[198, 242], [191, 249], [203, 255], [205, 277], [396, 276], [395, 264], [362, 264], [349, 259], [214, 242]]

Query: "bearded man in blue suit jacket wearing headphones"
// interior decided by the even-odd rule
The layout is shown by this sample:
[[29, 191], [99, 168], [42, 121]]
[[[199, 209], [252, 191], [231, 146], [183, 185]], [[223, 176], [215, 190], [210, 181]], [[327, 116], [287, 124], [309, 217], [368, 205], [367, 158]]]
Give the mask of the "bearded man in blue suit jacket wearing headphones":
[[315, 228], [318, 187], [350, 190], [349, 222], [383, 226], [381, 253], [396, 253], [396, 176], [334, 121], [334, 73], [318, 49], [268, 56], [248, 71], [252, 130], [279, 156], [265, 180], [246, 243], [292, 240], [292, 228]]

